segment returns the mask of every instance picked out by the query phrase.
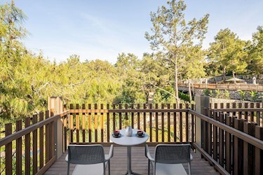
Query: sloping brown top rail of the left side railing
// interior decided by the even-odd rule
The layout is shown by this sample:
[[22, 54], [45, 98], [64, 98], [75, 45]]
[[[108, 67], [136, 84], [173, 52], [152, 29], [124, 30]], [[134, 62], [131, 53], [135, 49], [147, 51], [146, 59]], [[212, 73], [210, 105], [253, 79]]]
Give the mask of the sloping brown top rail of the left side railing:
[[68, 113], [69, 113], [69, 110], [64, 111], [63, 113], [60, 113], [58, 115], [47, 118], [46, 120], [43, 120], [43, 121], [36, 123], [34, 125], [30, 125], [29, 127], [26, 127], [26, 128], [24, 128], [18, 132], [15, 132], [11, 135], [8, 135], [7, 137], [4, 137], [3, 139], [0, 139], [0, 147], [10, 143], [11, 141], [14, 141], [15, 139], [18, 139], [18, 138], [24, 136], [25, 134], [29, 134], [30, 132], [32, 132], [32, 131], [40, 128], [40, 127], [43, 127], [43, 125], [46, 125], [48, 123], [52, 123], [53, 121], [58, 120], [58, 118], [65, 116]]

